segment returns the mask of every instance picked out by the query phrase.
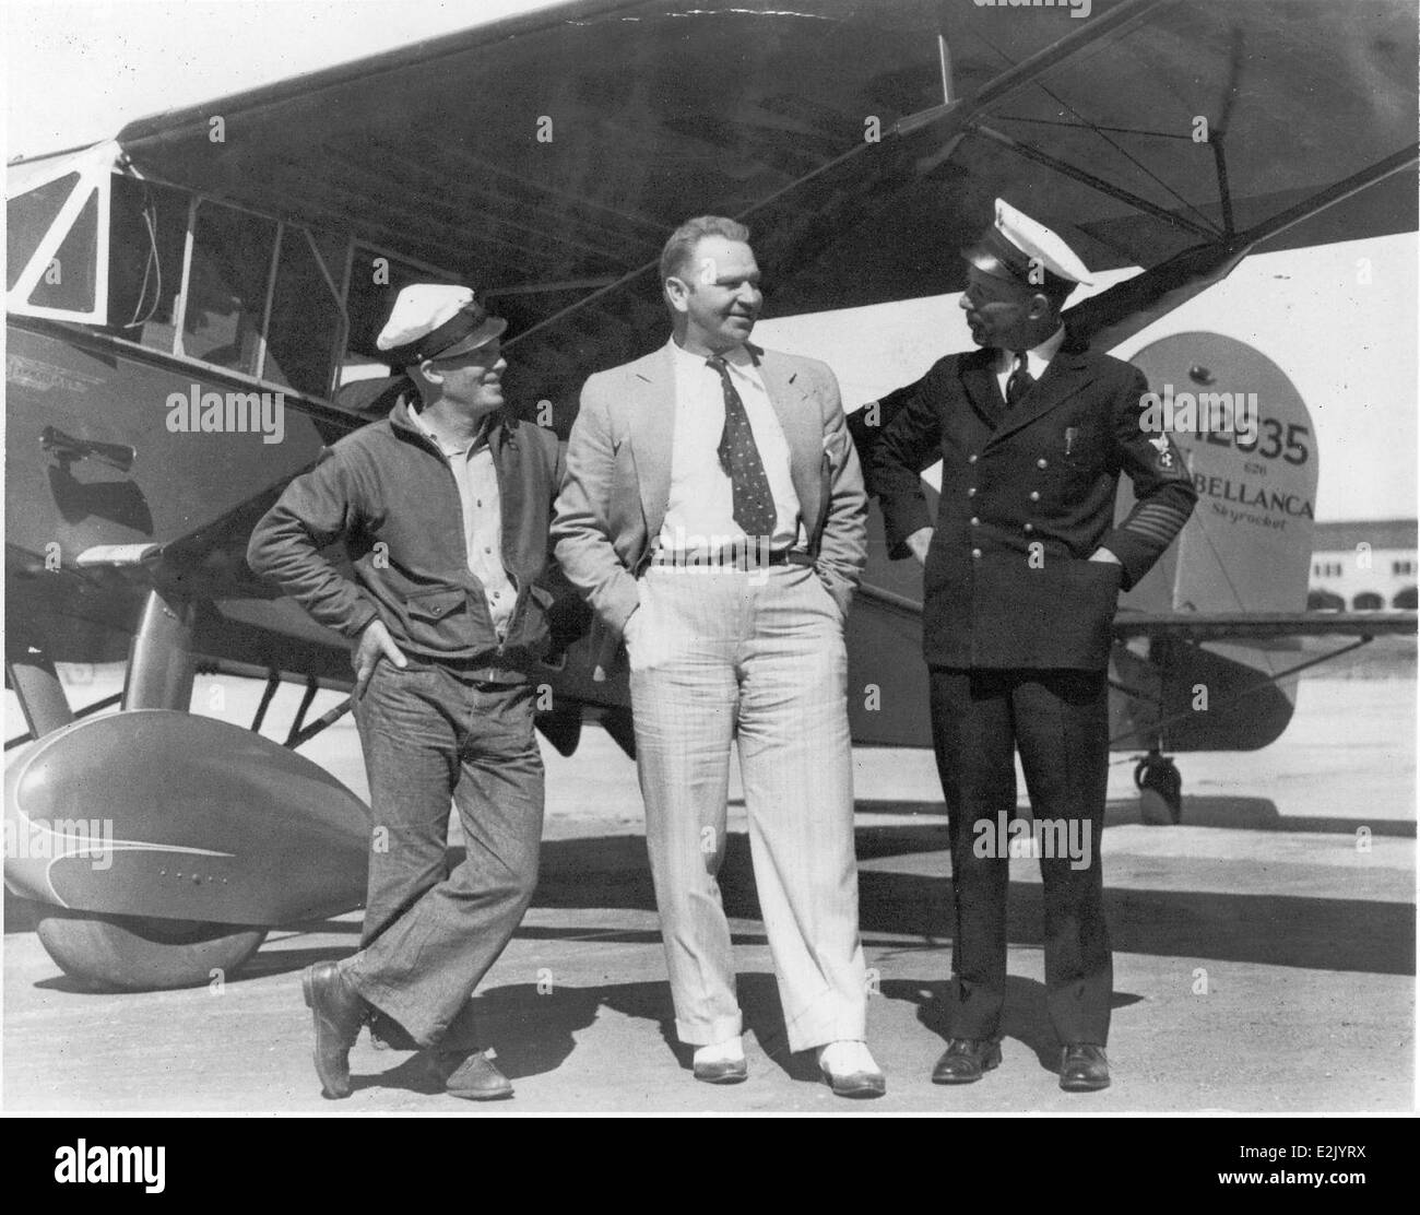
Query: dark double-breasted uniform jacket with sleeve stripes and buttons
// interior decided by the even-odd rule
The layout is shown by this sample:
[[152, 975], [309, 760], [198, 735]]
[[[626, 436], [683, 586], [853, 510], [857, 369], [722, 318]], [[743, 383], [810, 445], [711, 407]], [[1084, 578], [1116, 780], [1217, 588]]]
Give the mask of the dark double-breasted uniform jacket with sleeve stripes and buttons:
[[[1139, 428], [1149, 388], [1137, 368], [1062, 348], [1007, 409], [995, 358], [950, 355], [880, 402], [868, 487], [889, 556], [910, 556], [906, 537], [932, 526], [920, 473], [940, 458], [929, 665], [1103, 669], [1119, 590], [1159, 560], [1197, 495], [1173, 442]], [[1115, 527], [1122, 472], [1137, 503]], [[1122, 566], [1089, 561], [1100, 546]]]

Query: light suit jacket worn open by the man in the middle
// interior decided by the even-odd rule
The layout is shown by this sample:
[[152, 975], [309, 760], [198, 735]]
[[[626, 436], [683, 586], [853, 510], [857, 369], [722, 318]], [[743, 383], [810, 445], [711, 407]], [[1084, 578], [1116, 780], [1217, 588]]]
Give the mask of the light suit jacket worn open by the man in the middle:
[[[790, 448], [808, 551], [843, 615], [868, 563], [868, 497], [838, 381], [822, 362], [750, 345]], [[676, 372], [662, 347], [582, 387], [567, 448], [552, 541], [557, 561], [601, 625], [596, 665], [611, 665], [640, 598], [670, 497]]]

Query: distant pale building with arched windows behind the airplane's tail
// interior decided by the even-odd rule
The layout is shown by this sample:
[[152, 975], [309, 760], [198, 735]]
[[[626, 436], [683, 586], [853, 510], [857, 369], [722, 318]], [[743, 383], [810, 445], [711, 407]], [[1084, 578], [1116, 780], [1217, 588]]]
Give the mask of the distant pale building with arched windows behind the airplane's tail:
[[1308, 607], [1413, 608], [1416, 605], [1416, 520], [1318, 523], [1312, 533]]

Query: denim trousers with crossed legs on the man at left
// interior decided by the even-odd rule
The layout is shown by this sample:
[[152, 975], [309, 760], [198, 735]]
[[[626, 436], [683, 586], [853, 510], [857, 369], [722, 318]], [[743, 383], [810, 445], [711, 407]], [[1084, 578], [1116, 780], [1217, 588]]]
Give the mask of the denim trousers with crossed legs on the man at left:
[[[416, 1046], [481, 1046], [469, 998], [532, 900], [542, 836], [534, 699], [530, 684], [415, 658], [405, 669], [381, 661], [356, 699], [369, 885], [361, 951], [342, 966]], [[453, 871], [450, 799], [467, 847]]]

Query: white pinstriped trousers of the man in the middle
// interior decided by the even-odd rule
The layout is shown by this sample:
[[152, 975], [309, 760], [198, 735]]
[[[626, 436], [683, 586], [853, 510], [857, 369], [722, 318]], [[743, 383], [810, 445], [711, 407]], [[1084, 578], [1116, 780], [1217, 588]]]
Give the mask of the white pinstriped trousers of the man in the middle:
[[652, 566], [632, 628], [636, 767], [676, 1030], [741, 1032], [724, 858], [738, 745], [754, 882], [790, 1050], [865, 1037], [843, 622], [807, 566]]

